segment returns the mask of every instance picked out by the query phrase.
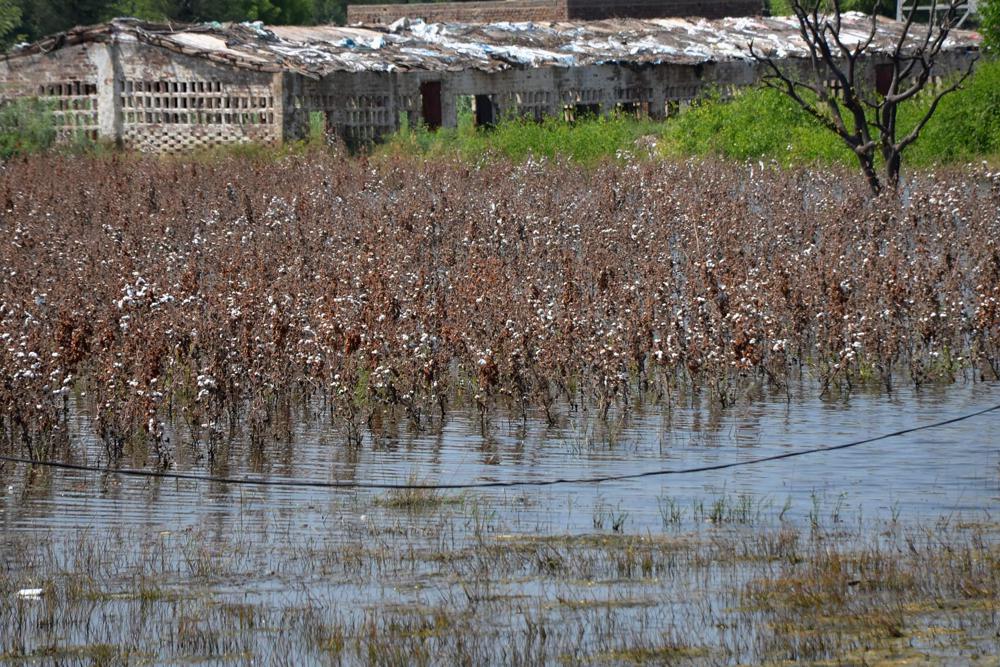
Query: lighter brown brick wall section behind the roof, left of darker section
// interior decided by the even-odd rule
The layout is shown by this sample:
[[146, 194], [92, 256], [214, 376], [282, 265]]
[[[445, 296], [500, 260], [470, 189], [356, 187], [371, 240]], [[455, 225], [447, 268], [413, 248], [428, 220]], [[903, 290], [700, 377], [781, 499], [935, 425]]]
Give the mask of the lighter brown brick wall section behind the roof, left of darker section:
[[499, 0], [400, 5], [348, 5], [347, 22], [388, 24], [401, 17], [429, 23], [489, 23], [492, 21], [565, 21], [566, 0]]

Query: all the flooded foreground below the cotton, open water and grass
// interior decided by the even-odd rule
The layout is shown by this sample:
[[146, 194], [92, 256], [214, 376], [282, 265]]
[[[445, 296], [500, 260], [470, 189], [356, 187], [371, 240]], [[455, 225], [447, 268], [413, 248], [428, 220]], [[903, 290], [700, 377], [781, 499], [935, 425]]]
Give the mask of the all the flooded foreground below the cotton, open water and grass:
[[[1000, 402], [969, 383], [601, 420], [401, 420], [177, 471], [466, 484], [629, 474], [836, 445]], [[104, 448], [77, 420], [72, 460]], [[190, 447], [190, 451], [199, 451]], [[498, 490], [288, 489], [6, 465], [7, 661], [996, 664], [1000, 413], [675, 477]], [[37, 593], [25, 589], [40, 589]], [[18, 591], [22, 591], [18, 596]]]

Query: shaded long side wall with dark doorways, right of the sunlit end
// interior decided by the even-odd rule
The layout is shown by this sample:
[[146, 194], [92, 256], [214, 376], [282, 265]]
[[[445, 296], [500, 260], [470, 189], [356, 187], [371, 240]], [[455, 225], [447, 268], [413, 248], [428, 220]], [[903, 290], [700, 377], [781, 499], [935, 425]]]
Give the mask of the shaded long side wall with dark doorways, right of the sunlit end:
[[[499, 72], [334, 72], [321, 79], [286, 73], [285, 136], [305, 136], [312, 114], [322, 114], [329, 130], [350, 146], [377, 141], [399, 129], [440, 122], [454, 127], [464, 105], [478, 118], [545, 117], [577, 120], [586, 114], [625, 113], [663, 118], [707, 89], [753, 84], [759, 65], [748, 61], [648, 67], [512, 68]], [[427, 85], [432, 84], [432, 85]], [[435, 100], [427, 104], [426, 95]], [[424, 117], [427, 108], [440, 118]]]

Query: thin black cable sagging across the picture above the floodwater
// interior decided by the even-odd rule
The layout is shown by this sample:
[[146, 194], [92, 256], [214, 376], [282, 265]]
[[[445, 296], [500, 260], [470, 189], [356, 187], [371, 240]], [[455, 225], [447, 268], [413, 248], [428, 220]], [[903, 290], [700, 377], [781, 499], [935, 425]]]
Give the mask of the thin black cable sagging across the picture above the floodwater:
[[963, 422], [968, 419], [973, 419], [974, 417], [979, 417], [989, 412], [994, 412], [1000, 410], [1000, 405], [994, 405], [993, 407], [984, 408], [977, 412], [972, 412], [961, 417], [953, 417], [951, 419], [945, 419], [944, 421], [934, 422], [933, 424], [924, 424], [922, 426], [914, 426], [911, 428], [905, 428], [899, 431], [894, 431], [892, 433], [886, 433], [883, 435], [878, 435], [872, 438], [865, 438], [864, 440], [855, 440], [853, 442], [847, 442], [841, 445], [830, 445], [828, 447], [814, 447], [812, 449], [803, 449], [794, 452], [785, 452], [784, 454], [773, 454], [771, 456], [762, 456], [756, 459], [748, 459], [746, 461], [731, 461], [729, 463], [717, 463], [714, 465], [704, 465], [697, 466], [694, 468], [679, 468], [671, 469], [664, 468], [660, 470], [648, 470], [646, 472], [629, 473], [624, 475], [603, 475], [599, 477], [560, 477], [556, 479], [543, 479], [543, 480], [513, 480], [507, 482], [469, 482], [465, 484], [391, 484], [382, 482], [321, 482], [319, 480], [304, 480], [304, 479], [264, 479], [261, 477], [217, 477], [214, 475], [193, 475], [190, 473], [180, 473], [180, 472], [165, 472], [159, 470], [136, 470], [132, 468], [108, 468], [99, 466], [88, 466], [79, 463], [60, 463], [58, 461], [39, 461], [35, 459], [22, 458], [18, 456], [3, 456], [0, 455], [0, 461], [6, 461], [8, 463], [26, 463], [28, 465], [42, 466], [46, 468], [58, 468], [61, 470], [79, 470], [83, 472], [100, 472], [113, 475], [124, 475], [127, 477], [153, 477], [159, 479], [175, 479], [175, 480], [190, 480], [194, 482], [218, 482], [220, 484], [232, 484], [232, 485], [243, 485], [243, 486], [277, 486], [284, 488], [312, 488], [312, 489], [369, 489], [369, 490], [388, 490], [388, 491], [409, 491], [409, 490], [426, 490], [426, 491], [458, 491], [458, 490], [469, 490], [469, 489], [498, 489], [498, 488], [510, 488], [519, 486], [556, 486], [561, 484], [602, 484], [604, 482], [621, 482], [631, 479], [642, 479], [645, 477], [663, 477], [666, 475], [689, 475], [698, 472], [712, 472], [715, 470], [727, 470], [729, 468], [740, 468], [743, 466], [757, 465], [759, 463], [768, 463], [771, 461], [783, 461], [785, 459], [792, 459], [799, 456], [806, 456], [808, 454], [819, 454], [822, 452], [833, 452], [842, 449], [850, 449], [851, 447], [859, 447], [861, 445], [871, 444], [873, 442], [878, 442], [880, 440], [888, 440], [889, 438], [898, 438], [902, 435], [907, 435], [909, 433], [916, 433], [917, 431], [928, 431], [930, 429], [941, 428], [943, 426], [949, 426], [951, 424], [957, 424], [958, 422]]

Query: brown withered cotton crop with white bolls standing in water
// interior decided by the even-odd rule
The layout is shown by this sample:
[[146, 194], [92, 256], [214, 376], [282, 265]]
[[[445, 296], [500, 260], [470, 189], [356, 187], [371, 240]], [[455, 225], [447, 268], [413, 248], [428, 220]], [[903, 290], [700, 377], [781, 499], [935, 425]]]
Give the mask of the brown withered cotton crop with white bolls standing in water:
[[386, 411], [598, 414], [699, 391], [1000, 374], [1000, 174], [715, 162], [36, 158], [0, 170], [0, 437], [168, 465], [183, 433]]

